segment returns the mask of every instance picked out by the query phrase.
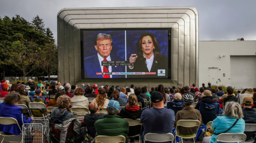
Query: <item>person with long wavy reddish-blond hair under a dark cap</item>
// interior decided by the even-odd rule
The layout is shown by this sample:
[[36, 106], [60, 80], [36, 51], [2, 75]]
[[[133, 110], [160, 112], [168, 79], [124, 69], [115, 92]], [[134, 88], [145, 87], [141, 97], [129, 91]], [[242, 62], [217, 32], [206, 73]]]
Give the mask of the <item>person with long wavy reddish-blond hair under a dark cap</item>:
[[107, 108], [109, 104], [109, 99], [106, 97], [106, 90], [101, 88], [98, 90], [97, 97], [93, 100], [93, 102], [97, 103], [99, 108]]

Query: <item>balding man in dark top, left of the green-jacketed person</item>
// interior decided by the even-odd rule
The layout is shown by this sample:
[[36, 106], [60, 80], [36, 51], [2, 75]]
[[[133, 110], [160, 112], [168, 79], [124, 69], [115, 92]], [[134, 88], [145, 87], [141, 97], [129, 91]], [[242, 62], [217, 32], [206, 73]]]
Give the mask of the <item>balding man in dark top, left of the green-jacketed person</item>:
[[87, 127], [88, 134], [91, 135], [91, 137], [95, 137], [96, 131], [94, 127], [95, 121], [99, 119], [103, 119], [106, 114], [104, 113], [98, 113], [99, 108], [97, 103], [92, 102], [89, 104], [89, 111], [91, 112], [90, 114], [84, 115], [84, 127]]

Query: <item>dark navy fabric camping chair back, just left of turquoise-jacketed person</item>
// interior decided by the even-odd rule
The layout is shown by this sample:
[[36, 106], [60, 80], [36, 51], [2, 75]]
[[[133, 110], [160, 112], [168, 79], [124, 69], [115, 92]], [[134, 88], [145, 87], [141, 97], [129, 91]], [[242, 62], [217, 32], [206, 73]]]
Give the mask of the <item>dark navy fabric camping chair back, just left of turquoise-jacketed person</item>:
[[200, 103], [199, 112], [202, 115], [202, 123], [206, 125], [209, 121], [213, 121], [219, 114], [219, 103], [210, 105], [207, 103]]

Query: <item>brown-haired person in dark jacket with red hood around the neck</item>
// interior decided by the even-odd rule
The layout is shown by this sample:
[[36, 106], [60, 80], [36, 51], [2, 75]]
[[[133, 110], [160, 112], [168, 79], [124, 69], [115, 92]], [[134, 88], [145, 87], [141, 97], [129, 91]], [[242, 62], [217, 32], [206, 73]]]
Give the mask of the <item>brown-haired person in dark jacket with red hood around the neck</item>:
[[130, 94], [128, 97], [128, 105], [123, 108], [118, 114], [121, 118], [129, 118], [129, 119], [140, 119], [142, 114], [142, 108], [138, 106], [138, 98], [135, 94]]

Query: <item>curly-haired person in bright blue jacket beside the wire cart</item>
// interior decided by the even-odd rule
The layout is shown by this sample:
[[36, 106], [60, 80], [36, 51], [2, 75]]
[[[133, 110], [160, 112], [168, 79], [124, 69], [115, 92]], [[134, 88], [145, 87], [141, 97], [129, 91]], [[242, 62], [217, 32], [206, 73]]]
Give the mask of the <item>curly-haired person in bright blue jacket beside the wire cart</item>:
[[[21, 97], [18, 92], [11, 92], [4, 98], [4, 102], [0, 105], [0, 117], [13, 117], [19, 123], [20, 128], [22, 128], [23, 123], [31, 123], [33, 117], [26, 119], [24, 115], [21, 114], [20, 107], [16, 106]], [[22, 122], [23, 116], [23, 122]], [[16, 124], [3, 125], [0, 124], [0, 131], [5, 132], [5, 134], [19, 135], [20, 129]]]

